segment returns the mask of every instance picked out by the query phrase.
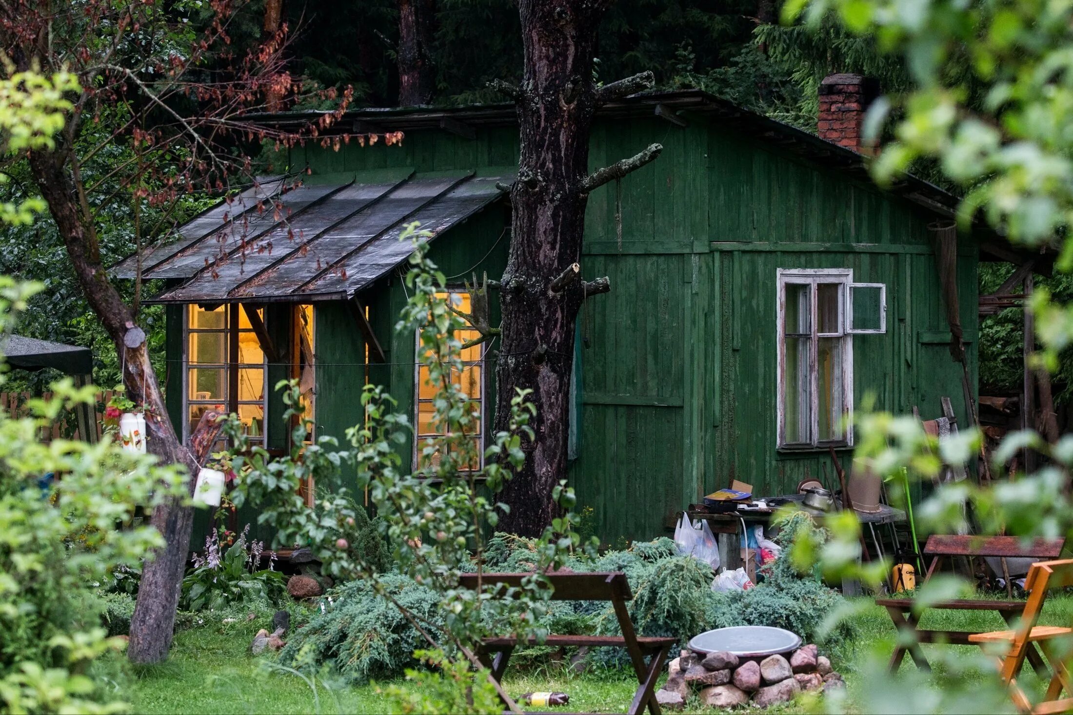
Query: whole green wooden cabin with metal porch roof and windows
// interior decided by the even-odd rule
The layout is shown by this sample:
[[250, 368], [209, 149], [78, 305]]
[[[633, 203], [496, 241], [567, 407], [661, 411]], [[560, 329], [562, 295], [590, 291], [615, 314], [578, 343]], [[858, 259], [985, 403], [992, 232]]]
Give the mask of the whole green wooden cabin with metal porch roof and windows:
[[[423, 429], [414, 336], [393, 330], [407, 299], [397, 236], [413, 220], [436, 230], [431, 257], [454, 286], [474, 272], [499, 278], [510, 204], [495, 183], [517, 168], [515, 121], [509, 105], [350, 113], [339, 131], [405, 138], [281, 152], [273, 170], [303, 181], [279, 197], [283, 210], [255, 210], [254, 194], [281, 185], [266, 180], [144, 256], [144, 274], [167, 280], [156, 299], [168, 304], [175, 422], [189, 430], [220, 404], [283, 449], [271, 386], [298, 377], [318, 434], [342, 438], [361, 420], [367, 382]], [[882, 191], [853, 151], [699, 91], [604, 107], [590, 164], [652, 141], [664, 147], [658, 160], [590, 196], [580, 260], [586, 280], [612, 284], [580, 315], [569, 475], [602, 539], [664, 534], [676, 511], [731, 479], [792, 493], [825, 475], [828, 446], [848, 464], [840, 418], [866, 396], [925, 417], [949, 396], [967, 423], [928, 228], [952, 215], [951, 196], [912, 178]], [[957, 238], [973, 390], [976, 264], [1009, 257], [997, 247]], [[117, 272], [133, 270], [128, 260]], [[466, 356], [462, 379], [485, 404], [495, 351]], [[246, 522], [254, 516], [239, 515]]]

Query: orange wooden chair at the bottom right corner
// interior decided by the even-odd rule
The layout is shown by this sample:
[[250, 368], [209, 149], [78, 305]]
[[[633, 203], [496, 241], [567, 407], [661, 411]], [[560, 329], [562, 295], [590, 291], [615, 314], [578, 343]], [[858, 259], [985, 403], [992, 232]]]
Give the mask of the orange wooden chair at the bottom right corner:
[[[1010, 688], [1010, 698], [1014, 705], [1023, 713], [1073, 711], [1073, 680], [1067, 668], [1067, 662], [1073, 657], [1073, 628], [1035, 625], [1043, 611], [1047, 592], [1071, 585], [1073, 585], [1073, 560], [1032, 564], [1025, 578], [1025, 590], [1031, 593], [1016, 627], [1013, 630], [995, 630], [969, 636], [969, 642], [978, 643], [981, 647], [988, 647], [991, 643], [1003, 643], [1008, 646], [1009, 650], [999, 661], [1000, 677]], [[1034, 705], [1017, 685], [1017, 675], [1033, 643], [1039, 644], [1053, 672], [1046, 696]], [[1059, 699], [1062, 689], [1065, 690], [1067, 697]]]

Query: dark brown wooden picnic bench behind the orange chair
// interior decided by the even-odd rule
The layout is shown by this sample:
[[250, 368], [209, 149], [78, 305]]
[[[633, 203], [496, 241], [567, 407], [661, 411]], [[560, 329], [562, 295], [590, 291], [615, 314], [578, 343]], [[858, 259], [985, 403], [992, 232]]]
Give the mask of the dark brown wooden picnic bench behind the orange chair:
[[[958, 556], [997, 556], [1003, 558], [1057, 558], [1062, 551], [1065, 539], [1033, 539], [1026, 545], [1016, 536], [944, 536], [932, 535], [928, 537], [924, 546], [925, 557], [930, 556], [927, 574], [923, 583], [927, 583], [938, 568], [942, 558], [955, 558]], [[891, 615], [891, 620], [898, 630], [912, 631], [914, 640], [908, 645], [897, 645], [891, 655], [890, 670], [897, 672], [902, 659], [908, 652], [917, 668], [929, 670], [927, 658], [921, 650], [921, 643], [950, 643], [954, 645], [969, 645], [969, 637], [979, 631], [966, 630], [930, 630], [920, 627], [921, 613], [913, 612], [914, 601], [912, 598], [877, 598], [877, 606], [882, 606]], [[1025, 610], [1024, 600], [985, 600], [956, 598], [952, 600], [941, 600], [928, 604], [926, 608], [942, 609], [950, 611], [995, 611], [1002, 616], [1008, 624], [1014, 621]], [[1043, 657], [1032, 649], [1027, 654], [1028, 661], [1032, 664], [1037, 672], [1044, 672], [1046, 666]]]

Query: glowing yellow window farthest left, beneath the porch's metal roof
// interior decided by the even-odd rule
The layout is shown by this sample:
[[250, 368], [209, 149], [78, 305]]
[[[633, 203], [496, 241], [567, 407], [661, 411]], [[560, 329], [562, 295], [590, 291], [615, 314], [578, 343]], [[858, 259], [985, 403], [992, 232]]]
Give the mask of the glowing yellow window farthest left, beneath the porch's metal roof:
[[[246, 307], [187, 307], [186, 429], [208, 409], [236, 413], [252, 444], [264, 444], [267, 362]], [[264, 309], [255, 311], [264, 326]]]

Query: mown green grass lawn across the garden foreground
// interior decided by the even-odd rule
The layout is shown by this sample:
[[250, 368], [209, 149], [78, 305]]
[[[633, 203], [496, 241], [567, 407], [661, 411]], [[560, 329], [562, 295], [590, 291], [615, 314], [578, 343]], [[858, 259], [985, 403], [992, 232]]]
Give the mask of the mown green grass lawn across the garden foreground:
[[[890, 712], [907, 712], [898, 707], [908, 702], [907, 688], [920, 682], [912, 661], [907, 656], [901, 676], [906, 681], [865, 672], [865, 661], [871, 657], [881, 662], [894, 643], [894, 628], [886, 611], [870, 600], [858, 601], [861, 610], [852, 616], [854, 637], [829, 652], [834, 667], [842, 672], [849, 686], [852, 710], [876, 709], [876, 698], [887, 702]], [[1073, 622], [1073, 598], [1053, 598], [1044, 612], [1043, 623]], [[254, 621], [222, 627], [209, 625], [180, 631], [175, 639], [171, 658], [163, 665], [144, 668], [133, 675], [126, 696], [137, 713], [382, 713], [385, 697], [377, 684], [359, 687], [339, 683], [304, 680], [296, 673], [274, 669], [271, 658], [253, 657], [249, 644], [258, 628], [266, 624]], [[932, 611], [925, 614], [922, 625], [929, 628], [990, 630], [1004, 627], [998, 614], [978, 611]], [[979, 652], [968, 646], [924, 645], [929, 659], [936, 658], [935, 677], [942, 682], [960, 661], [970, 662]], [[942, 656], [947, 656], [943, 661]], [[508, 692], [518, 696], [533, 690], [559, 690], [570, 695], [572, 712], [621, 713], [630, 702], [634, 682], [624, 671], [593, 670], [576, 675], [559, 667], [542, 667], [508, 672]], [[989, 673], [971, 677], [981, 686], [990, 684]], [[916, 680], [914, 680], [916, 679]], [[988, 682], [984, 682], [984, 681]], [[879, 683], [879, 684], [877, 684]], [[880, 695], [877, 688], [890, 695]], [[691, 703], [689, 712], [704, 712]], [[800, 712], [802, 704], [776, 709], [775, 712]], [[771, 712], [771, 711], [768, 711]]]

